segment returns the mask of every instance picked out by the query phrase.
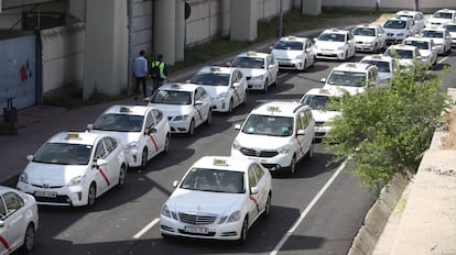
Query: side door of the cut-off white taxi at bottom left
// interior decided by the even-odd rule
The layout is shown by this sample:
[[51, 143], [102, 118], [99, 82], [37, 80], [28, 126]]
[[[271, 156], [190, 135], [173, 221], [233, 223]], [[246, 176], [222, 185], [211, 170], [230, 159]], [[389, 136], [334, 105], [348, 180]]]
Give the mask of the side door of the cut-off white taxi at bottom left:
[[0, 228], [0, 251], [13, 251], [21, 245], [25, 232], [24, 201], [14, 192], [3, 193], [1, 200], [6, 217]]

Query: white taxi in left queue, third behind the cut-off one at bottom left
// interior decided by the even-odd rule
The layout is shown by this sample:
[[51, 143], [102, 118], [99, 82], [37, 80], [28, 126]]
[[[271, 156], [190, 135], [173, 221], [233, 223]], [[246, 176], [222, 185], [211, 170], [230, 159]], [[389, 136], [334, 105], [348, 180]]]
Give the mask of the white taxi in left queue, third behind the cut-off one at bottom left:
[[210, 96], [199, 85], [165, 84], [146, 100], [149, 107], [161, 109], [167, 115], [172, 133], [193, 135], [197, 126], [210, 124]]

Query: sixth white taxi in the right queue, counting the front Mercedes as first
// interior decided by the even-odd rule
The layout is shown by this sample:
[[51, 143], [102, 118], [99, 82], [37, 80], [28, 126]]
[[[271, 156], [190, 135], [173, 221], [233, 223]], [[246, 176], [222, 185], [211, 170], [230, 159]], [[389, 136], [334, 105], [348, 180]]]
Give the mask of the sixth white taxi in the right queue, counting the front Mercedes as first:
[[395, 58], [399, 67], [403, 68], [411, 68], [414, 65], [414, 60], [424, 62], [417, 47], [405, 44], [391, 45], [383, 55]]

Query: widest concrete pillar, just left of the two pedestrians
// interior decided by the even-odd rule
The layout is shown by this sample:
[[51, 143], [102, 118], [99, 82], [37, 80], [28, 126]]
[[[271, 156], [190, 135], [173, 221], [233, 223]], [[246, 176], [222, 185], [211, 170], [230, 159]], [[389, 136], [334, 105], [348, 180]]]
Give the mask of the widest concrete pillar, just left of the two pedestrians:
[[90, 0], [86, 8], [84, 98], [127, 89], [127, 1]]

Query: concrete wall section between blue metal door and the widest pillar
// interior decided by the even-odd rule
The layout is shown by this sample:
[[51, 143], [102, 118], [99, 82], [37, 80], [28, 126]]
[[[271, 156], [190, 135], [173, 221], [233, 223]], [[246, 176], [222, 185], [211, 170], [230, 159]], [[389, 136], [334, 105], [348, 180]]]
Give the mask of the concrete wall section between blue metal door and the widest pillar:
[[41, 31], [43, 93], [84, 81], [85, 23]]

